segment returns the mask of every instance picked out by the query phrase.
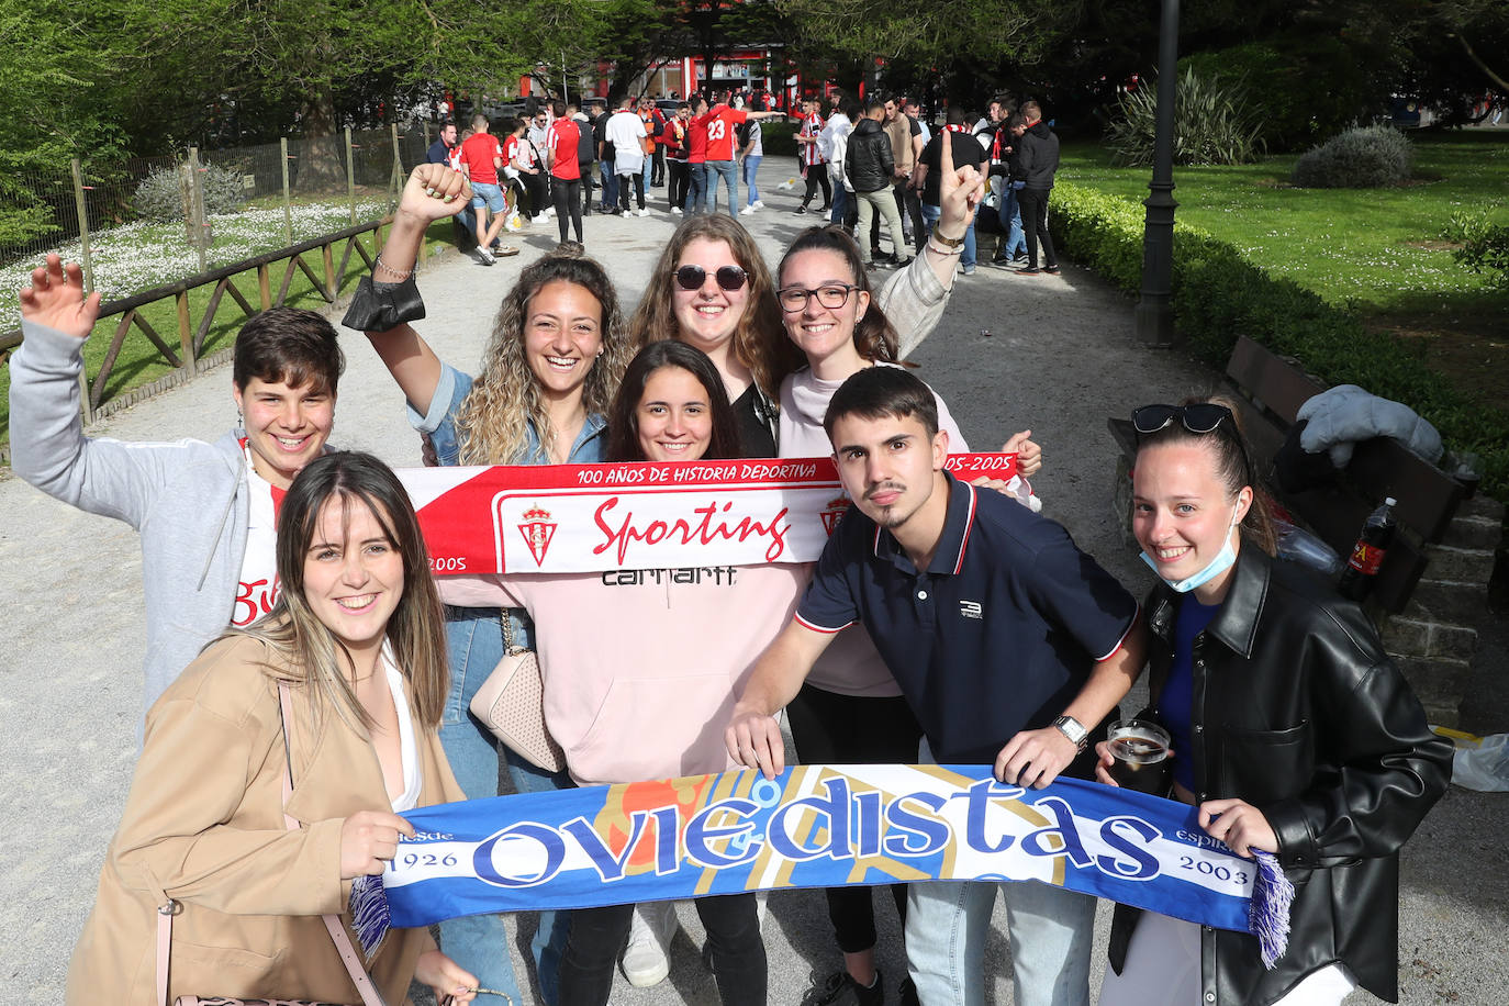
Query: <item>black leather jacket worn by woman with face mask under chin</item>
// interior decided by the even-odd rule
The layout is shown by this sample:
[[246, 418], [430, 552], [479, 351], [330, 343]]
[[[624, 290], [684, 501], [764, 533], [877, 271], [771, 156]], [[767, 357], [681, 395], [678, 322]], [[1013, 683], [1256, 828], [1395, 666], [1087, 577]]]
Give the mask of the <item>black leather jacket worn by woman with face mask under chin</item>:
[[[1154, 703], [1177, 603], [1159, 584], [1145, 605]], [[1195, 796], [1262, 810], [1296, 891], [1289, 949], [1272, 971], [1254, 937], [1201, 934], [1201, 1001], [1266, 1006], [1335, 961], [1397, 1001], [1399, 848], [1446, 792], [1452, 745], [1431, 733], [1363, 609], [1251, 544], [1192, 659]], [[1136, 917], [1117, 905], [1118, 973]]]

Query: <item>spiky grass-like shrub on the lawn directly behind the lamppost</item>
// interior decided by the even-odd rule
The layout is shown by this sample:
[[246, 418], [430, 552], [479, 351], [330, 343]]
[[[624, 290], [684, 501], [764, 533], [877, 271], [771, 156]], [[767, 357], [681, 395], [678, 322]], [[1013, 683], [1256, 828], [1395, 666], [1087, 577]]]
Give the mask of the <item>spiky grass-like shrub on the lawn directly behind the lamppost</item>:
[[[1216, 83], [1194, 69], [1179, 75], [1174, 103], [1176, 164], [1249, 164], [1262, 152], [1255, 116], [1240, 81]], [[1151, 164], [1157, 125], [1157, 87], [1121, 97], [1120, 116], [1106, 142], [1121, 164]]]

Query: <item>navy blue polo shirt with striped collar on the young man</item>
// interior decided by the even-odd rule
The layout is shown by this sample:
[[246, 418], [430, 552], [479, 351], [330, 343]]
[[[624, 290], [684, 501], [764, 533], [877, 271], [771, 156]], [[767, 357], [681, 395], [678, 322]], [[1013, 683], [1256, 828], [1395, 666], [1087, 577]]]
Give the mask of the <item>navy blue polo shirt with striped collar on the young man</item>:
[[928, 569], [851, 507], [797, 618], [816, 632], [863, 621], [934, 757], [984, 765], [1062, 715], [1121, 647], [1138, 603], [1062, 525], [945, 475], [948, 517]]

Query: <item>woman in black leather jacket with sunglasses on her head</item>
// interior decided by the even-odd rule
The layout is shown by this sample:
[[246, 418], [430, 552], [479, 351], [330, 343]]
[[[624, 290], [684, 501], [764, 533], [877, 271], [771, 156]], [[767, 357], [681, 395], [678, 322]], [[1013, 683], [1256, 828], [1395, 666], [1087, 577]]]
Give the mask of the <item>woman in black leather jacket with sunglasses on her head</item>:
[[1272, 558], [1233, 412], [1192, 401], [1132, 418], [1132, 528], [1162, 581], [1144, 606], [1142, 715], [1172, 736], [1171, 796], [1237, 855], [1275, 855], [1296, 894], [1271, 968], [1254, 937], [1118, 905], [1100, 1001], [1313, 1006], [1357, 985], [1396, 1001], [1399, 849], [1446, 789], [1452, 745], [1363, 609]]

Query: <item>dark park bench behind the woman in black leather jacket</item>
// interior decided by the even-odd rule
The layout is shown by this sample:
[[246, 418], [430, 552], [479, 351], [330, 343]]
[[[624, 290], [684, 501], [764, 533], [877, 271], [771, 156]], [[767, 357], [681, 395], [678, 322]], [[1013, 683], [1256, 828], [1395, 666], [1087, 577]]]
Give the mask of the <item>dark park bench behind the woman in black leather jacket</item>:
[[[1388, 652], [1415, 683], [1432, 721], [1455, 724], [1476, 649], [1471, 624], [1486, 611], [1503, 507], [1470, 499], [1467, 486], [1388, 437], [1357, 443], [1332, 486], [1283, 493], [1272, 478], [1274, 455], [1299, 407], [1326, 386], [1305, 374], [1298, 360], [1277, 356], [1246, 336], [1237, 339], [1225, 377], [1269, 493], [1343, 560], [1367, 516], [1384, 498], [1396, 499], [1399, 531], [1369, 605], [1379, 617]], [[1130, 418], [1112, 416], [1108, 425], [1121, 448], [1115, 505], [1130, 540], [1129, 474], [1136, 434]]]

